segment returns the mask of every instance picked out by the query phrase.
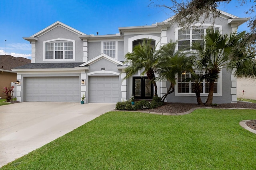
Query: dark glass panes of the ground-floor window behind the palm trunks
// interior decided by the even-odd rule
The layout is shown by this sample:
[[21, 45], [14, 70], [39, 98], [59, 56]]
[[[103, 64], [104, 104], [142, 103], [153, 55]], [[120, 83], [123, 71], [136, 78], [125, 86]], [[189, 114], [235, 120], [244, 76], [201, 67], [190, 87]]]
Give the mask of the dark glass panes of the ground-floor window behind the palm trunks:
[[[201, 71], [196, 74], [202, 76], [205, 74], [205, 71]], [[178, 93], [195, 93], [194, 92], [195, 84], [191, 81], [190, 82], [184, 81], [189, 77], [191, 77], [190, 73], [182, 73], [178, 75], [178, 79], [177, 79]], [[203, 94], [209, 93], [209, 83], [205, 79], [201, 83], [201, 86], [202, 86], [201, 93]], [[218, 79], [215, 79], [213, 93], [215, 94], [218, 93]]]

